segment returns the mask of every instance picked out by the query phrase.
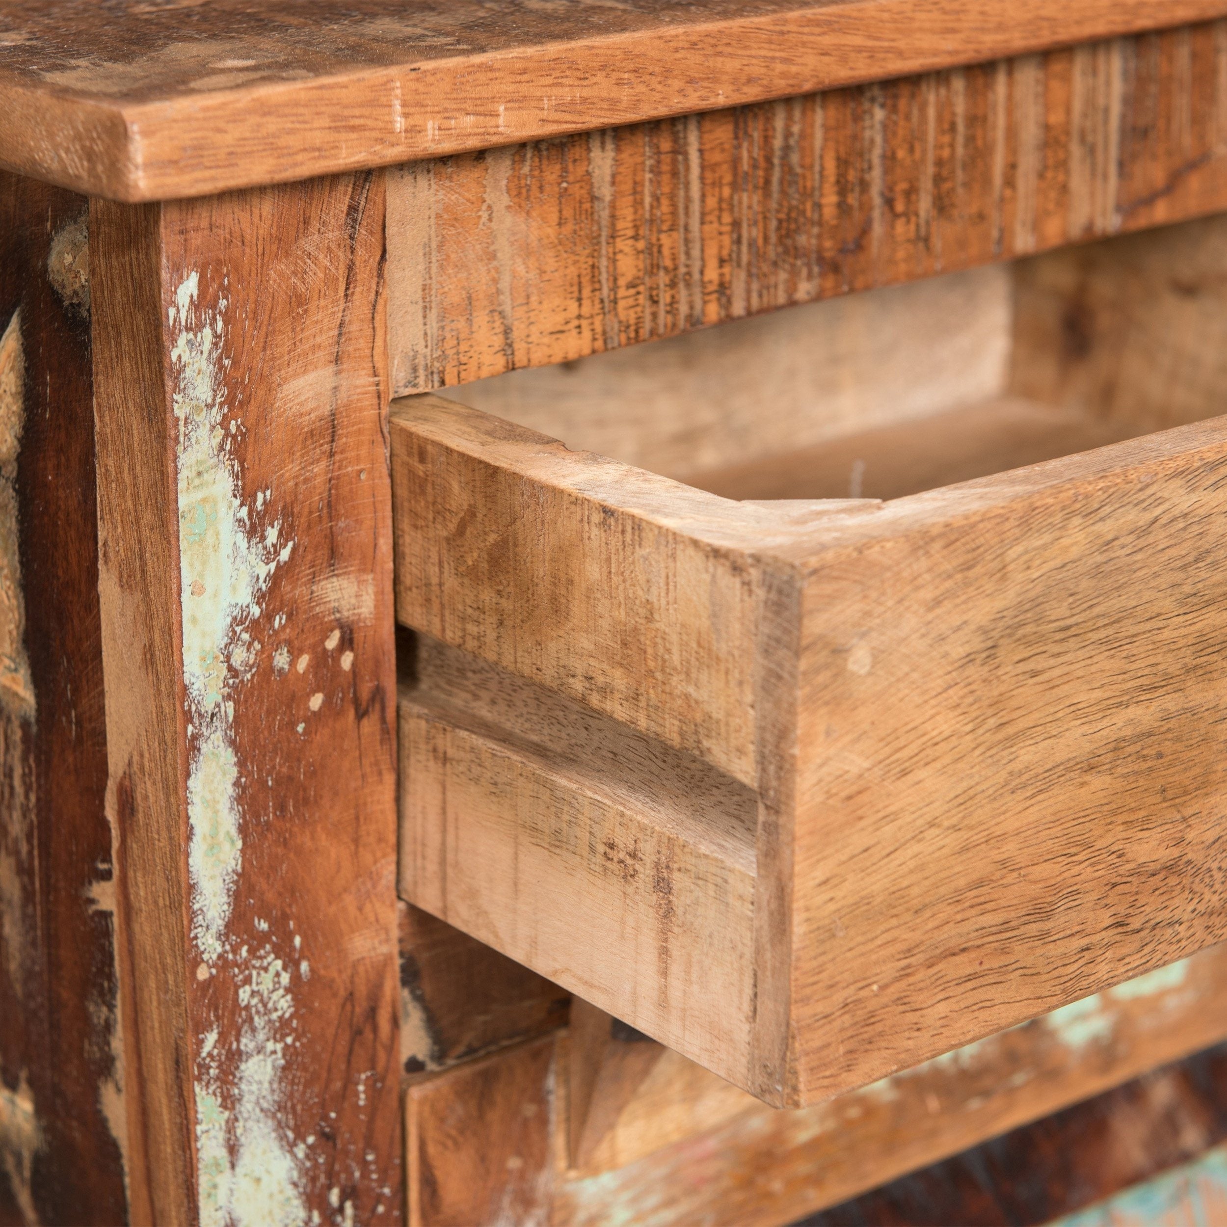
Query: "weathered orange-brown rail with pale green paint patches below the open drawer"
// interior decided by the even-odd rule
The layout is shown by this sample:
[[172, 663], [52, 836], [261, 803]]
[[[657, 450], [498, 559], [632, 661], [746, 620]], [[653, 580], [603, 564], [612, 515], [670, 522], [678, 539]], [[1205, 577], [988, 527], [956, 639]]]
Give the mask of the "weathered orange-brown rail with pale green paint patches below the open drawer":
[[[1227, 952], [1215, 947], [793, 1112], [764, 1108], [665, 1053], [601, 1147], [558, 1180], [552, 1221], [598, 1227], [616, 1205], [643, 1227], [778, 1227], [1221, 1042], [1223, 1016], [1214, 1011], [1225, 995]], [[1214, 1140], [1199, 1135], [1191, 1153]], [[1124, 1150], [1120, 1183], [1137, 1178]], [[1156, 1166], [1160, 1156], [1172, 1156], [1155, 1146], [1128, 1150], [1141, 1150]], [[1038, 1162], [1036, 1156], [1031, 1168]], [[1109, 1169], [1103, 1163], [1101, 1174]], [[1083, 1171], [1091, 1177], [1096, 1162], [1088, 1157]], [[1017, 1185], [1020, 1194], [1033, 1188]], [[1054, 1205], [1049, 1214], [1066, 1207]], [[915, 1201], [910, 1209], [915, 1212]], [[936, 1225], [967, 1221], [980, 1220], [939, 1202]]]

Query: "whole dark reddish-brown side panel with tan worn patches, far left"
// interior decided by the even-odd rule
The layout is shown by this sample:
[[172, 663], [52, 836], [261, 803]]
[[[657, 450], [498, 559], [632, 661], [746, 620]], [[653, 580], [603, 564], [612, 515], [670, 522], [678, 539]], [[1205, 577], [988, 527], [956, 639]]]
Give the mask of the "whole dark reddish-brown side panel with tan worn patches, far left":
[[0, 1222], [126, 1221], [86, 201], [0, 174]]

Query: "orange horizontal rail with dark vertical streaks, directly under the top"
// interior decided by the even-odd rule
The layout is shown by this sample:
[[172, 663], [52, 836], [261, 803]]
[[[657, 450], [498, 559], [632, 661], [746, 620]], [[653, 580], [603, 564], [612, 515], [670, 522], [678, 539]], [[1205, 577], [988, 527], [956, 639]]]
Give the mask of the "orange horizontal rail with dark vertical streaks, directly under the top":
[[395, 393], [1223, 209], [1225, 64], [1207, 23], [401, 167]]

